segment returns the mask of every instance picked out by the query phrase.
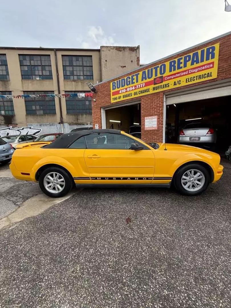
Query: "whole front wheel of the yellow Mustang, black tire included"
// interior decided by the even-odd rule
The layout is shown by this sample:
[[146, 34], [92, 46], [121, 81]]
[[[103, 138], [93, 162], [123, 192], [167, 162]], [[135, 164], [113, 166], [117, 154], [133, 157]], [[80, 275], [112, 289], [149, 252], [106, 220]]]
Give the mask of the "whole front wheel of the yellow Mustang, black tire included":
[[[200, 173], [200, 175], [197, 175], [198, 173]], [[196, 175], [198, 179], [194, 183], [195, 179], [193, 176], [196, 177]], [[198, 182], [201, 184], [198, 184]], [[209, 186], [210, 175], [207, 169], [200, 164], [188, 164], [176, 171], [173, 183], [176, 190], [182, 195], [196, 196], [203, 193]]]

